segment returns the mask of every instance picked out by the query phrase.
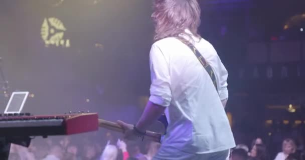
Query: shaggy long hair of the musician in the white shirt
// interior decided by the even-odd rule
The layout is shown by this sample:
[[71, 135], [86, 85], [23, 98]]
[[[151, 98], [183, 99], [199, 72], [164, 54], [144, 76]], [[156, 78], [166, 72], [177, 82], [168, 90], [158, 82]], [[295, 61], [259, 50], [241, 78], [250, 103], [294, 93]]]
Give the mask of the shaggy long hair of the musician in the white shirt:
[[154, 0], [154, 13], [151, 15], [156, 23], [155, 40], [166, 37], [178, 37], [189, 29], [193, 35], [200, 37], [200, 6], [197, 0]]

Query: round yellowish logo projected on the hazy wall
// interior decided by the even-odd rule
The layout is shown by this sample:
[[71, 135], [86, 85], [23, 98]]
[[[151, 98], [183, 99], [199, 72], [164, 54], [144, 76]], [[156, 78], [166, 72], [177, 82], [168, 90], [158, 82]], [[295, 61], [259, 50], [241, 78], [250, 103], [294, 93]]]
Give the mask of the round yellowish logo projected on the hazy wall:
[[41, 26], [41, 38], [47, 47], [50, 45], [70, 47], [70, 39], [64, 39], [66, 30], [63, 22], [58, 18], [45, 18]]

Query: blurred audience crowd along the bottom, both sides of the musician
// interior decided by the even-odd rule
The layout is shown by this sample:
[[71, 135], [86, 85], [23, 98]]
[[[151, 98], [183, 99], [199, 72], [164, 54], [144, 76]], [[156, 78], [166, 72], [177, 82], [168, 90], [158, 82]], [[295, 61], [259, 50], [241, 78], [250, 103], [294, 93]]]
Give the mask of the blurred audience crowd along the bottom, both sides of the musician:
[[[29, 147], [11, 145], [11, 160], [150, 160], [160, 143], [152, 141], [129, 142], [106, 132], [72, 136], [34, 138]], [[257, 137], [251, 144], [237, 144], [231, 150], [230, 160], [305, 160], [304, 136], [284, 138], [277, 153], [269, 154], [272, 143]]]

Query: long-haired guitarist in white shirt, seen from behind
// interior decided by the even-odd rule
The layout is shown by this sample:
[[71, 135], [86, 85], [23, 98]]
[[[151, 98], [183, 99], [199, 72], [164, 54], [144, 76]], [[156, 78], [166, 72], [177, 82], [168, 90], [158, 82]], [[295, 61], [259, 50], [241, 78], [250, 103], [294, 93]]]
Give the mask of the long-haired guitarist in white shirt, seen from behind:
[[198, 34], [198, 1], [154, 0], [151, 17], [156, 42], [149, 55], [150, 97], [136, 125], [118, 121], [126, 138], [142, 138], [165, 112], [167, 134], [153, 159], [227, 159], [235, 146], [224, 109], [228, 72], [212, 44]]

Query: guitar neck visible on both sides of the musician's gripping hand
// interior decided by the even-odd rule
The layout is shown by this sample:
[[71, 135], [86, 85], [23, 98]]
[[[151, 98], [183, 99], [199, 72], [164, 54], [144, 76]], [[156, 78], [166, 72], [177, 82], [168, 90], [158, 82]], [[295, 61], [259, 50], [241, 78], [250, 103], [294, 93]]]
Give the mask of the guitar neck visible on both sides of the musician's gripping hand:
[[[98, 125], [99, 127], [107, 128], [109, 130], [118, 131], [121, 133], [124, 133], [124, 129], [117, 123], [104, 120], [104, 119], [98, 119]], [[144, 139], [153, 140], [156, 142], [161, 142], [161, 133], [157, 133], [154, 131], [146, 130], [146, 134], [144, 135]]]

